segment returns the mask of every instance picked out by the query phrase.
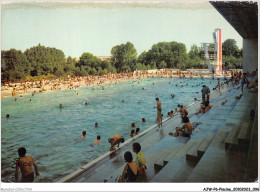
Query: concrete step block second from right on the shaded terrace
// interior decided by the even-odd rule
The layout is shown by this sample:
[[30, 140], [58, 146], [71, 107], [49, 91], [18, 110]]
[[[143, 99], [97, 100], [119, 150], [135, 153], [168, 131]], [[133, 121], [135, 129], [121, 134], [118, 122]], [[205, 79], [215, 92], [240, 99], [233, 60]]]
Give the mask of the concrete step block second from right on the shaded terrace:
[[231, 131], [225, 140], [225, 149], [238, 149], [238, 134], [240, 126], [233, 125]]

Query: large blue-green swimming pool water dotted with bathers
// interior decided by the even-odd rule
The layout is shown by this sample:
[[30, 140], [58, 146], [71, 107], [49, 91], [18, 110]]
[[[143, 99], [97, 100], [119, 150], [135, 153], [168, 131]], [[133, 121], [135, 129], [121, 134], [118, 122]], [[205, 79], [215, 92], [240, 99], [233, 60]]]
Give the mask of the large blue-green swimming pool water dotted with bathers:
[[[14, 158], [18, 157], [17, 149], [25, 147], [27, 155], [32, 155], [37, 163], [44, 177], [42, 181], [55, 182], [109, 151], [107, 140], [111, 135], [120, 134], [129, 139], [132, 122], [140, 127], [140, 132], [154, 125], [157, 96], [162, 101], [165, 118], [178, 103], [187, 106], [195, 97], [201, 99], [202, 84], [207, 84], [212, 91], [217, 80], [146, 78], [105, 84], [104, 90], [89, 86], [24, 95], [22, 99], [17, 97], [18, 102], [14, 102], [14, 97], [4, 98], [1, 103], [2, 181], [14, 181]], [[174, 99], [171, 94], [175, 95]], [[60, 103], [63, 109], [59, 108]], [[5, 117], [7, 113], [9, 119]], [[142, 117], [146, 118], [145, 123], [141, 123]], [[98, 128], [94, 127], [95, 122], [99, 123]], [[84, 130], [87, 136], [81, 141]], [[103, 142], [91, 147], [97, 135]]]

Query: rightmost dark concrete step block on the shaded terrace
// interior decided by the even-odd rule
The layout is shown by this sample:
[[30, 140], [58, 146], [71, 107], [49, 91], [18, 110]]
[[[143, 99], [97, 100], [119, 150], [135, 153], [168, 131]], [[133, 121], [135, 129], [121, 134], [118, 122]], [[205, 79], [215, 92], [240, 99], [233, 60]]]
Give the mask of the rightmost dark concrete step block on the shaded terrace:
[[243, 122], [238, 135], [238, 146], [242, 151], [248, 150], [250, 146], [251, 128], [249, 122]]

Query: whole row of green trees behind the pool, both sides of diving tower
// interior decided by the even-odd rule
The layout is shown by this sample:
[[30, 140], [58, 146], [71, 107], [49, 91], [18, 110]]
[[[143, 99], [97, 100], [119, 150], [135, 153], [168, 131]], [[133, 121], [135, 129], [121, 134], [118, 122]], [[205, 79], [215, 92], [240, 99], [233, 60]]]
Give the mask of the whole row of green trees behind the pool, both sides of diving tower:
[[[225, 67], [239, 68], [242, 51], [235, 40], [228, 39], [223, 45]], [[137, 56], [131, 42], [116, 45], [111, 49], [111, 59], [102, 61], [91, 53], [83, 53], [79, 60], [65, 57], [62, 50], [38, 45], [25, 52], [16, 49], [1, 51], [2, 82], [32, 78], [56, 78], [66, 75], [85, 76], [107, 73], [131, 72], [134, 70], [162, 68], [207, 68], [202, 64], [201, 50], [192, 45], [187, 53], [186, 46], [178, 42], [160, 42], [147, 52]]]

